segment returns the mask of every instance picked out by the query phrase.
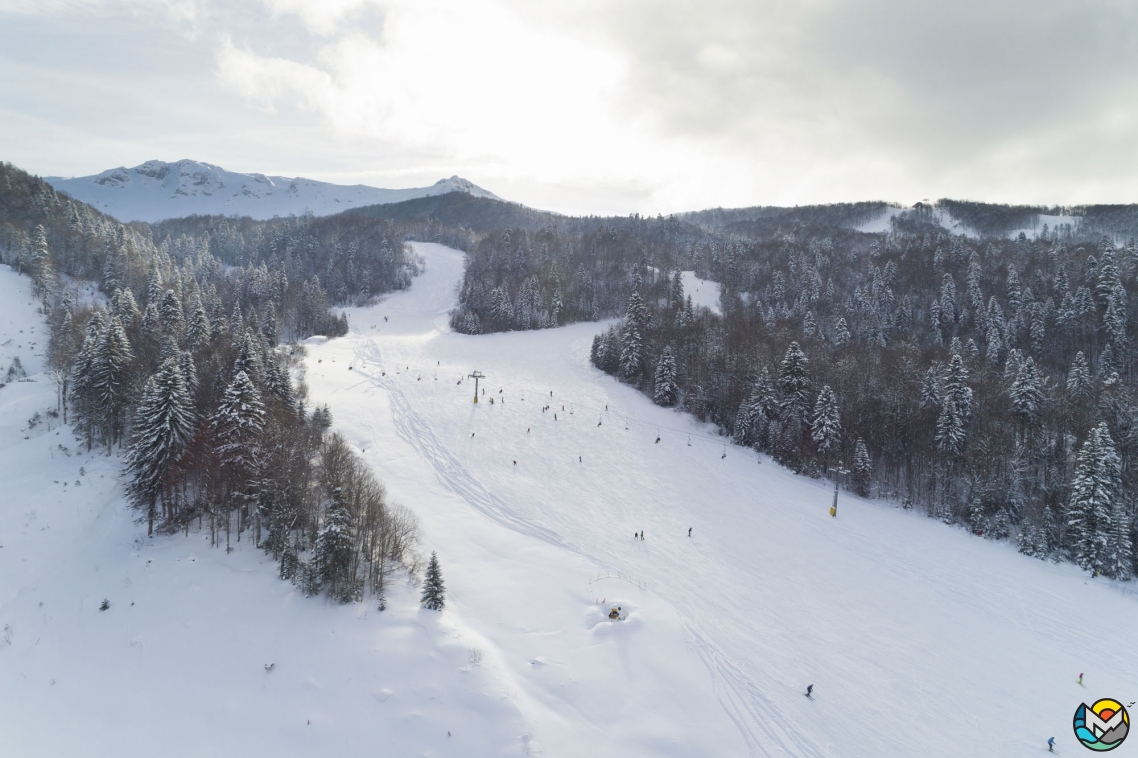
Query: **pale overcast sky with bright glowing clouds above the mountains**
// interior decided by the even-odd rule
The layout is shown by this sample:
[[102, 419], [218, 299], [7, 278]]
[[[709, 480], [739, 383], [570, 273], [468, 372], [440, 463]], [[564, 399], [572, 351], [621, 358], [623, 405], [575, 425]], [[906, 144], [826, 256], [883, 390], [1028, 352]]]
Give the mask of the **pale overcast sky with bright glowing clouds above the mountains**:
[[566, 213], [1138, 201], [1135, 0], [0, 0], [0, 159]]

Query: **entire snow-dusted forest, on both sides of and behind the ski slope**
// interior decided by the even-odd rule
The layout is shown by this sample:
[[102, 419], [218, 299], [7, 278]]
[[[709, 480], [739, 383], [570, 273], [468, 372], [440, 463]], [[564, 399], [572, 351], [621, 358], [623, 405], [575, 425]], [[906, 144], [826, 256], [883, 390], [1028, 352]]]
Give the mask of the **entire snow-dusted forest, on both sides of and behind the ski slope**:
[[[1135, 572], [1135, 206], [1069, 209], [1082, 223], [1031, 238], [1006, 232], [1059, 209], [942, 200], [881, 233], [852, 226], [882, 203], [571, 219], [431, 200], [123, 225], [10, 165], [0, 198], [0, 255], [43, 298], [60, 410], [88, 447], [126, 453], [140, 517], [253, 539], [313, 593], [381, 594], [417, 560], [415, 522], [306, 407], [280, 343], [344, 333], [332, 306], [410, 286], [409, 239], [465, 252], [457, 331], [615, 319], [594, 365], [740, 445], [1029, 555]], [[719, 282], [718, 312], [682, 271]], [[77, 297], [79, 279], [101, 295]]]

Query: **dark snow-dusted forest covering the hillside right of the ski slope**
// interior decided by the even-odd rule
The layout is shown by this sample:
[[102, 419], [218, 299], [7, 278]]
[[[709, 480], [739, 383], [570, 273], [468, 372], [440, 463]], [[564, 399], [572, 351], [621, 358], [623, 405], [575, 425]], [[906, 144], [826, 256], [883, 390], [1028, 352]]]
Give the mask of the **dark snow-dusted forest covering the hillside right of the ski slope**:
[[[856, 206], [486, 233], [452, 323], [619, 318], [593, 363], [657, 403], [794, 471], [1130, 577], [1138, 245], [1081, 226], [954, 236], [933, 209], [880, 234], [849, 228], [873, 211]], [[692, 306], [681, 271], [721, 285], [721, 313]]]

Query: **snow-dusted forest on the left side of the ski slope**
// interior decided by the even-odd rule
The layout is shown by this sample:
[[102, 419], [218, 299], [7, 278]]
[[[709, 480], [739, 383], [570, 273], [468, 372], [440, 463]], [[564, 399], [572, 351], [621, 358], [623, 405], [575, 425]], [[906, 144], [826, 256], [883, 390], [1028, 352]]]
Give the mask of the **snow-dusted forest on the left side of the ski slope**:
[[330, 304], [407, 287], [403, 238], [310, 217], [123, 225], [0, 164], [0, 261], [42, 303], [58, 412], [89, 451], [123, 452], [148, 534], [251, 539], [306, 593], [380, 608], [393, 571], [419, 571], [418, 521], [308, 407], [303, 347], [281, 343], [344, 333]]

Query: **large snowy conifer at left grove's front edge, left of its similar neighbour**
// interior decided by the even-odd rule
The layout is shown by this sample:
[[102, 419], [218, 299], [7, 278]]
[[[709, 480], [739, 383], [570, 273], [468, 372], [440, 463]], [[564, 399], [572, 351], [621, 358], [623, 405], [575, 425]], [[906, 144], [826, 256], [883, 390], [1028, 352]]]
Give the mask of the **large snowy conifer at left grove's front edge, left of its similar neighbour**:
[[171, 472], [181, 461], [196, 426], [193, 401], [182, 371], [173, 359], [167, 359], [147, 380], [126, 455], [131, 473], [126, 493], [135, 508], [146, 511], [148, 536], [154, 535], [158, 500], [170, 496]]

